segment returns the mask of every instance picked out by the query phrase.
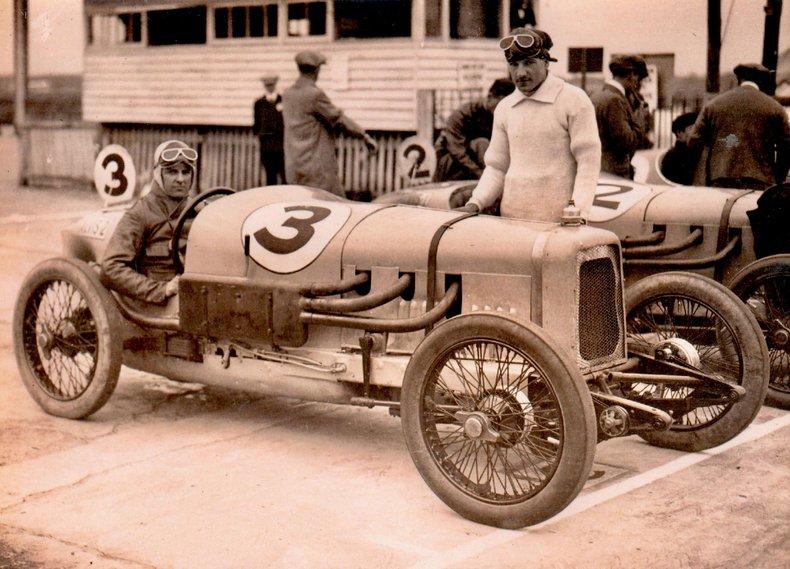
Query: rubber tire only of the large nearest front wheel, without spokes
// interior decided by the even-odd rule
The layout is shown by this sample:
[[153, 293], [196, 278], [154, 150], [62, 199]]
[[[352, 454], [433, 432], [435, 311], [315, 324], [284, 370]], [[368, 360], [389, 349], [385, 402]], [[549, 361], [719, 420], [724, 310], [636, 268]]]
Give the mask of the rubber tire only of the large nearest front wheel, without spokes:
[[[462, 492], [436, 465], [423, 438], [420, 400], [424, 370], [431, 369], [450, 346], [471, 339], [499, 340], [524, 351], [545, 372], [560, 405], [565, 433], [559, 464], [547, 486], [521, 503], [496, 506]], [[406, 368], [401, 417], [406, 446], [431, 490], [465, 518], [500, 528], [534, 525], [562, 511], [587, 482], [595, 457], [595, 411], [578, 366], [543, 330], [502, 316], [467, 314], [437, 326], [417, 347]]]

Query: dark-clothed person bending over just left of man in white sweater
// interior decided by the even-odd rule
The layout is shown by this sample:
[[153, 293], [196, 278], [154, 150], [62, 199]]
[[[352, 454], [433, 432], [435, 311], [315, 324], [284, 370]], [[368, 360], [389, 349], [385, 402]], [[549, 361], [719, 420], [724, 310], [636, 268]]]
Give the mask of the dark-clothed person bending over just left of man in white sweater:
[[464, 103], [450, 114], [436, 140], [435, 182], [480, 178], [491, 139], [494, 109], [514, 88], [510, 78], [497, 79], [485, 99]]

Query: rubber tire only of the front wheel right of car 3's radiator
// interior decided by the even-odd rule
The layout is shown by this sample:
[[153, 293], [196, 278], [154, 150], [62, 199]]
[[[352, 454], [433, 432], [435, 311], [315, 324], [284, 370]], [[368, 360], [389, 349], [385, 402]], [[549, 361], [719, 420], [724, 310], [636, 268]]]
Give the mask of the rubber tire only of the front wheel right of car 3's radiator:
[[707, 427], [696, 430], [646, 431], [639, 433], [654, 446], [697, 452], [718, 446], [743, 431], [760, 411], [768, 390], [768, 347], [754, 315], [727, 287], [695, 273], [666, 272], [646, 277], [626, 289], [626, 327], [639, 305], [667, 293], [695, 299], [715, 309], [730, 326], [741, 346], [744, 398]]

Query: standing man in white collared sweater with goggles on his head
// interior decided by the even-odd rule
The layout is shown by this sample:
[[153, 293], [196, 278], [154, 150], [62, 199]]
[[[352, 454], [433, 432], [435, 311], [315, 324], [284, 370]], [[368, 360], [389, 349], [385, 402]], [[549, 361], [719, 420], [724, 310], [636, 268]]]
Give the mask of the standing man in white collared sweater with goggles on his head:
[[503, 216], [558, 222], [573, 200], [586, 216], [595, 197], [601, 143], [587, 94], [549, 74], [549, 34], [516, 28], [499, 47], [516, 91], [494, 111], [486, 167], [464, 210], [500, 196]]

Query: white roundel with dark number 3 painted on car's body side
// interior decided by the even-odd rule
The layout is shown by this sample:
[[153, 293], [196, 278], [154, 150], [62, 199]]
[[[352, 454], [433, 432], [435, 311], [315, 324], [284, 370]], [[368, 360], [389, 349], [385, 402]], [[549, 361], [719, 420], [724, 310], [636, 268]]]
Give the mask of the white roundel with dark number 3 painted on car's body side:
[[293, 273], [315, 261], [351, 215], [334, 202], [289, 202], [253, 211], [241, 226], [250, 257], [273, 273]]

